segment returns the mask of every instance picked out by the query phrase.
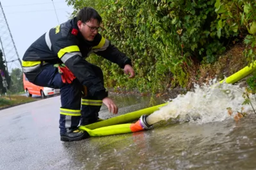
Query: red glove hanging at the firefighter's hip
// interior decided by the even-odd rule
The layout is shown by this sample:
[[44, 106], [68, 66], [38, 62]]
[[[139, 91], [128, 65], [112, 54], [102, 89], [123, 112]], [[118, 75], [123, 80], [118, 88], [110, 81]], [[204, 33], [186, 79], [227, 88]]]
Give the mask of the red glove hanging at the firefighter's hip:
[[61, 74], [62, 82], [70, 84], [72, 81], [74, 81], [74, 79], [76, 79], [74, 74], [70, 72], [70, 70], [64, 64], [56, 64], [54, 65], [54, 67], [58, 67], [58, 71]]

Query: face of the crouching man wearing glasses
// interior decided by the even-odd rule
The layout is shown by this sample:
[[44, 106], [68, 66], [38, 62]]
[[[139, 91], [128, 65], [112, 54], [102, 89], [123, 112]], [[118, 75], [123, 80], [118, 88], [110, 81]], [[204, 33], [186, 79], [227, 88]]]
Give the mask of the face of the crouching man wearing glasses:
[[85, 23], [79, 20], [77, 21], [77, 26], [79, 28], [79, 31], [84, 36], [85, 40], [92, 42], [94, 37], [98, 33], [99, 22], [96, 19], [91, 19], [90, 21]]

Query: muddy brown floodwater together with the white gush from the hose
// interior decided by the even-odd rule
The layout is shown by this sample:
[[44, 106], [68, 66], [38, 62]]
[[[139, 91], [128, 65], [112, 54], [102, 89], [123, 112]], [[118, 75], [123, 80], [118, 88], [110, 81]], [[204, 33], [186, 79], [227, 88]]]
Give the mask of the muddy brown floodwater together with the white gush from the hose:
[[[256, 169], [256, 116], [241, 105], [242, 88], [225, 85], [196, 88], [151, 114], [154, 129], [134, 134], [95, 137], [65, 143], [70, 157], [59, 167], [77, 169]], [[224, 93], [223, 93], [224, 92]], [[121, 112], [136, 111], [148, 98], [115, 97]], [[157, 104], [163, 103], [159, 98]], [[244, 107], [248, 116], [239, 121], [227, 107]], [[104, 109], [101, 115], [104, 117]], [[77, 155], [78, 154], [78, 155]]]

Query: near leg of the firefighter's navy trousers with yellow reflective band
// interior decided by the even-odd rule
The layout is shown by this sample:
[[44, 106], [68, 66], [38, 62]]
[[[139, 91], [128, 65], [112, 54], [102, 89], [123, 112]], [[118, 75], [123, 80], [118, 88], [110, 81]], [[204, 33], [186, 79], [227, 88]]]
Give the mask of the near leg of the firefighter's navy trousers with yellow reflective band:
[[79, 125], [82, 94], [81, 84], [77, 79], [71, 84], [63, 83], [60, 73], [56, 72], [56, 68], [49, 64], [42, 67], [42, 72], [38, 74], [33, 84], [60, 89], [60, 134], [65, 134], [69, 128]]

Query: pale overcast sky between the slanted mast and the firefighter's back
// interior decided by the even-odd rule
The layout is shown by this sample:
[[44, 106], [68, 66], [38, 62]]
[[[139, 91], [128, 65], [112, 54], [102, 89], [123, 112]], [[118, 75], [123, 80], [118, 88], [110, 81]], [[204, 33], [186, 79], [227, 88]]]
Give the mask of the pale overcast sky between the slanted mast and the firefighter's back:
[[29, 45], [51, 27], [68, 20], [72, 6], [65, 0], [0, 0], [20, 59]]

